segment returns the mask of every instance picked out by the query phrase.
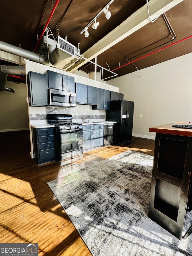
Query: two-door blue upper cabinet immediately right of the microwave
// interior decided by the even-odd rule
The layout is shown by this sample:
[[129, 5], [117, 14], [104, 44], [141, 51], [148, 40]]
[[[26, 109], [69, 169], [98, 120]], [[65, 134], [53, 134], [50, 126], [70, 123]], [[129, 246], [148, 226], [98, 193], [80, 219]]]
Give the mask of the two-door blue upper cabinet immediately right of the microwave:
[[76, 83], [77, 103], [97, 105], [97, 95], [98, 95], [98, 89], [96, 87]]

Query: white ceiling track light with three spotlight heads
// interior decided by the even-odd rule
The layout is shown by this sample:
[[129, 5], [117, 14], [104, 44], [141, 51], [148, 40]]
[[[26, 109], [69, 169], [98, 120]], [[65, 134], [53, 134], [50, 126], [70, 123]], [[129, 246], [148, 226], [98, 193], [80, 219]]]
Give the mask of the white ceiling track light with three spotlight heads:
[[85, 37], [89, 36], [88, 33], [88, 27], [92, 25], [92, 28], [95, 30], [97, 29], [97, 27], [99, 26], [99, 22], [96, 22], [96, 19], [102, 14], [105, 14], [105, 17], [107, 20], [110, 19], [111, 17], [111, 13], [109, 11], [109, 6], [110, 4], [112, 4], [115, 0], [111, 0], [88, 24], [87, 26], [80, 32], [80, 34], [82, 34], [84, 32]]

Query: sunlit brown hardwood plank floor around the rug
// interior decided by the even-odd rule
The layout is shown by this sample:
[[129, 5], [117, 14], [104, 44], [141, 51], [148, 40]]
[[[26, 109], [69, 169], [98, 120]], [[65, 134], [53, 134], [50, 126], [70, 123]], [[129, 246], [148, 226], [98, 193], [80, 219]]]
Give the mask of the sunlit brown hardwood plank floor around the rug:
[[38, 243], [39, 255], [91, 255], [46, 183], [129, 149], [153, 156], [154, 146], [155, 140], [133, 137], [129, 144], [38, 166], [30, 157], [29, 131], [1, 132], [1, 243]]

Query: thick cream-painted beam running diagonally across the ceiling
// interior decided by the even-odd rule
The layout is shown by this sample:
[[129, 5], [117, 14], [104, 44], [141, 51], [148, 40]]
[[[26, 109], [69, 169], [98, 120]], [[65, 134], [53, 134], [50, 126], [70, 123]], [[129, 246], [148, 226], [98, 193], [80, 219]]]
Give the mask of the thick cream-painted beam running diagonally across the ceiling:
[[[183, 0], [151, 0], [149, 2], [149, 13], [152, 20], [159, 17], [166, 11], [170, 10], [174, 6], [178, 5]], [[130, 17], [128, 17], [123, 23], [117, 26], [113, 31], [107, 34], [104, 38], [94, 44], [91, 48], [85, 51], [82, 55], [85, 59], [77, 62], [71, 66], [67, 71], [75, 71], [82, 65], [88, 62], [88, 60], [94, 59], [96, 56], [100, 55], [104, 51], [113, 47], [115, 44], [122, 41], [124, 38], [133, 34], [138, 29], [149, 23], [147, 4], [142, 8], [134, 12]]]

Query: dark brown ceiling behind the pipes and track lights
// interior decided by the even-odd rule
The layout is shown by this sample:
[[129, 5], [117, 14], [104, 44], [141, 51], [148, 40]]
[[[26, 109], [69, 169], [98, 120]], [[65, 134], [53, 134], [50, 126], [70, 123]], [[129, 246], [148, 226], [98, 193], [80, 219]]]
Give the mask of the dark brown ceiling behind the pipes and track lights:
[[[152, 1], [152, 0], [151, 0]], [[37, 44], [37, 35], [41, 35], [56, 0], [1, 0], [0, 41], [33, 51]], [[112, 14], [106, 20], [104, 14], [98, 18], [98, 29], [88, 29], [89, 37], [85, 38], [80, 31], [104, 8], [109, 0], [60, 0], [49, 22], [49, 27], [56, 37], [56, 29], [62, 38], [67, 36], [67, 41], [80, 47], [83, 54], [101, 38], [115, 29], [131, 14], [146, 5], [146, 0], [116, 0], [110, 5]], [[176, 5], [165, 15], [161, 15], [154, 23], [148, 23], [132, 35], [120, 41], [97, 57], [97, 63], [110, 70], [125, 65], [152, 53], [162, 47], [172, 44], [192, 35], [192, 1], [184, 0]], [[192, 38], [173, 45], [158, 53], [134, 62], [138, 70], [146, 68], [169, 59], [192, 52]], [[126, 60], [126, 59], [127, 60]], [[108, 65], [107, 65], [108, 64]], [[136, 71], [135, 65], [129, 64], [117, 69], [118, 76]], [[91, 65], [84, 67], [85, 71], [93, 70]], [[104, 77], [107, 74], [104, 73]]]

